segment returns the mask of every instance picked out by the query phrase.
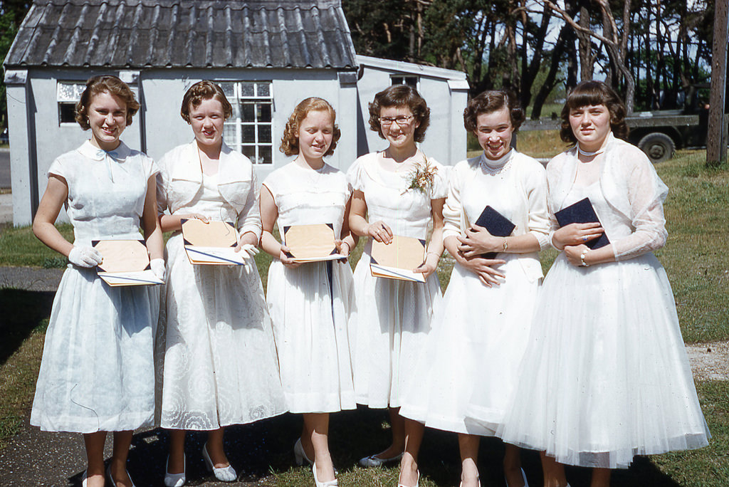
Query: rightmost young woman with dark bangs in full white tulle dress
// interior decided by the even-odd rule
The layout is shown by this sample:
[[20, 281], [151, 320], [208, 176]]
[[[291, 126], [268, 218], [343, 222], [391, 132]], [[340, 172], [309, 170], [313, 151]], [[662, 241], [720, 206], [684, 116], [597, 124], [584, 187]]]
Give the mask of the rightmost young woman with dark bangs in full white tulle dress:
[[[603, 82], [582, 82], [562, 109], [576, 143], [547, 165], [551, 242], [561, 253], [542, 286], [518, 391], [500, 434], [545, 452], [545, 485], [563, 464], [593, 467], [592, 487], [635, 455], [701, 448], [710, 437], [696, 397], [666, 271], [668, 188], [627, 135], [625, 109]], [[590, 198], [600, 223], [558, 227], [555, 211]], [[601, 225], [600, 225], [601, 224]], [[605, 233], [610, 244], [586, 243]]]

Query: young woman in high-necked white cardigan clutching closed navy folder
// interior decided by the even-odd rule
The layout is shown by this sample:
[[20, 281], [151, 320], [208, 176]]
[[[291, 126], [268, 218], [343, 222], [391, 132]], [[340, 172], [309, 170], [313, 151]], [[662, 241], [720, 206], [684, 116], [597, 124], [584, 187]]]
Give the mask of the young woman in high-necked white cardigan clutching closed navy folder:
[[[480, 485], [480, 436], [496, 434], [519, 380], [542, 278], [539, 250], [548, 243], [545, 170], [510, 146], [523, 120], [518, 101], [504, 91], [481, 93], [464, 111], [483, 153], [451, 171], [443, 238], [456, 265], [402, 405], [404, 416], [459, 434], [462, 487]], [[476, 225], [486, 206], [516, 225], [511, 235]], [[504, 474], [508, 486], [526, 485], [512, 445]]]

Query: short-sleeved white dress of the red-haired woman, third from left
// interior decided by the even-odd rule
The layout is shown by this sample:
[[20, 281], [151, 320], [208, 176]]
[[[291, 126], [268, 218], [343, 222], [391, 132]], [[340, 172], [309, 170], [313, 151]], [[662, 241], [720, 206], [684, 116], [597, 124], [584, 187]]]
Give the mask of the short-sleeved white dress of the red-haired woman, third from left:
[[[294, 162], [263, 182], [286, 225], [332, 223], [342, 230], [351, 195], [346, 176], [324, 164], [319, 171]], [[274, 259], [266, 295], [281, 367], [286, 405], [292, 413], [354, 409], [348, 326], [354, 312], [348, 262], [308, 262], [286, 268]]]

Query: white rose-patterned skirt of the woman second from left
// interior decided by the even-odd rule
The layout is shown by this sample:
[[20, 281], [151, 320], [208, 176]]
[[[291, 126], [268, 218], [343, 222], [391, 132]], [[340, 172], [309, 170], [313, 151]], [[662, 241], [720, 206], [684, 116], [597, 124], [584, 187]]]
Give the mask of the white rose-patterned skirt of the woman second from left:
[[286, 412], [268, 308], [255, 262], [192, 265], [181, 234], [167, 242], [156, 343], [157, 424], [218, 429]]

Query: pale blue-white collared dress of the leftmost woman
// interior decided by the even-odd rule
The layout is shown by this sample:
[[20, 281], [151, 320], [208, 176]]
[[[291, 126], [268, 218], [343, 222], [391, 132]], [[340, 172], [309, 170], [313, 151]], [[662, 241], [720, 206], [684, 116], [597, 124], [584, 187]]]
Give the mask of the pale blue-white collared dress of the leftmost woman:
[[[74, 244], [142, 239], [139, 225], [151, 158], [120, 144], [86, 141], [54, 160], [66, 179]], [[109, 287], [96, 268], [70, 265], [58, 286], [43, 346], [31, 424], [44, 431], [125, 431], [152, 424], [153, 340], [159, 287]]]

